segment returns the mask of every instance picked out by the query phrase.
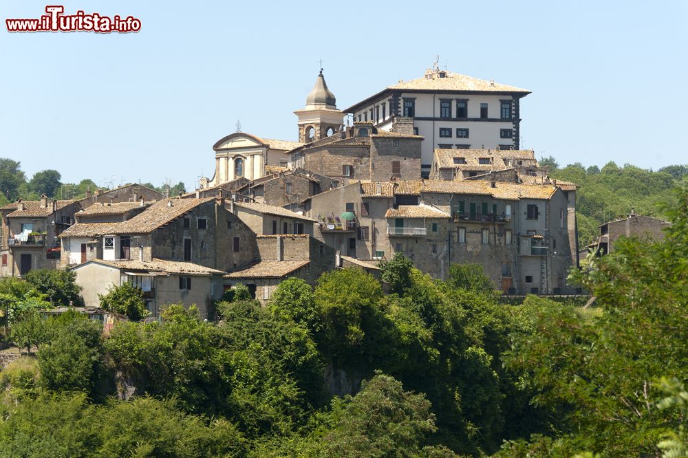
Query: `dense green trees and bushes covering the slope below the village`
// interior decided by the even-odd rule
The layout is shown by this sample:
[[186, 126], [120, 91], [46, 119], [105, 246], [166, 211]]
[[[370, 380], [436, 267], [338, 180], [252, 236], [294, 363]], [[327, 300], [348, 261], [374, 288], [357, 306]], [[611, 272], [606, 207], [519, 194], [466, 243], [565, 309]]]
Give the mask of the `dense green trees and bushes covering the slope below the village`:
[[45, 281], [0, 281], [15, 342], [38, 347], [0, 372], [0, 455], [685, 456], [688, 189], [671, 201], [664, 241], [572, 273], [588, 309], [506, 305], [476, 266], [438, 281], [395, 257], [389, 294], [336, 270], [105, 336], [17, 305], [45, 305]]

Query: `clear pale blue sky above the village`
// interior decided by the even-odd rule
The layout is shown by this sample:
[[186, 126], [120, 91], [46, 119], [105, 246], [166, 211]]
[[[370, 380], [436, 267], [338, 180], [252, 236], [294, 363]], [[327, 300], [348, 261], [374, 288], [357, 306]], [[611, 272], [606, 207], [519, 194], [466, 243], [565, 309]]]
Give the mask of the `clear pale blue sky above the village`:
[[[60, 4], [59, 2], [49, 2]], [[345, 108], [452, 72], [524, 87], [522, 146], [560, 164], [688, 163], [688, 2], [70, 1], [142, 21], [136, 34], [21, 33], [45, 2], [1, 0], [0, 157], [30, 177], [183, 181], [213, 175], [235, 131], [296, 140], [323, 59]]]

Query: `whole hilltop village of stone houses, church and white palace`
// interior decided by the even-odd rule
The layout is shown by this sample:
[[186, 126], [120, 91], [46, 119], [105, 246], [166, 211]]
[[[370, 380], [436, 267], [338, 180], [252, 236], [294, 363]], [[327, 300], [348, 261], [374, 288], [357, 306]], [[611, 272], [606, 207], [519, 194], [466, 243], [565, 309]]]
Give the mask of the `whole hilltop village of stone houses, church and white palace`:
[[396, 253], [437, 279], [478, 263], [505, 294], [574, 294], [577, 186], [519, 149], [528, 94], [435, 67], [341, 110], [321, 69], [297, 142], [230, 133], [193, 193], [130, 184], [3, 206], [0, 274], [72, 269], [93, 307], [131, 282], [153, 316], [207, 314], [237, 283], [264, 303], [290, 276], [379, 276]]

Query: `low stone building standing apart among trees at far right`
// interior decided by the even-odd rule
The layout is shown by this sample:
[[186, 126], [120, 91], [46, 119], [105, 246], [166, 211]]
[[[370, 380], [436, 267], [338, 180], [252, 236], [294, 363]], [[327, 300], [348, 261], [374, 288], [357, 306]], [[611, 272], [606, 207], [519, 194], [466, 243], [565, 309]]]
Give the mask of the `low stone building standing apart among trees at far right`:
[[664, 230], [669, 226], [671, 226], [669, 221], [636, 215], [635, 210], [631, 208], [631, 212], [625, 218], [601, 224], [599, 237], [595, 243], [585, 248], [596, 256], [604, 256], [614, 250], [614, 243], [619, 240], [619, 237], [641, 237], [659, 241], [664, 239]]

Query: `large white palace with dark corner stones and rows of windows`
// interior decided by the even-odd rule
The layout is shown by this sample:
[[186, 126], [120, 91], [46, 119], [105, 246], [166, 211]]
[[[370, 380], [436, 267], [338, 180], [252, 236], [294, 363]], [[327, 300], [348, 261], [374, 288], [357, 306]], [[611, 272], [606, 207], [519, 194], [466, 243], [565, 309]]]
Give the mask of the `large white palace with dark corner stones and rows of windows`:
[[422, 78], [401, 81], [344, 110], [354, 121], [390, 130], [393, 118], [413, 118], [422, 135], [422, 175], [428, 177], [433, 150], [519, 149], [520, 103], [526, 89], [428, 69]]

